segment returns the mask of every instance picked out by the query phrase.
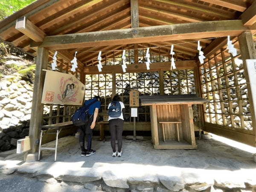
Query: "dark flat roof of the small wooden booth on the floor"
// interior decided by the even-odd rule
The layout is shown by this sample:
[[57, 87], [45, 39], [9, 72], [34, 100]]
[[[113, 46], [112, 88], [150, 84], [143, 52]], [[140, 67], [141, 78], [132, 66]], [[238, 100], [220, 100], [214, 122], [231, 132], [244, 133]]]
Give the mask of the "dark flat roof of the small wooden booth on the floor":
[[178, 104], [203, 104], [210, 102], [207, 99], [190, 95], [154, 95], [140, 96], [141, 105], [178, 105]]

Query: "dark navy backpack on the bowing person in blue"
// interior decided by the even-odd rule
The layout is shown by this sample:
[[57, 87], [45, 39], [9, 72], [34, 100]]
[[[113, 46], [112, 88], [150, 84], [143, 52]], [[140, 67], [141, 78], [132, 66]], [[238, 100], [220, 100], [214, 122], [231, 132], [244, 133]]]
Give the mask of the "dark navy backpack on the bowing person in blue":
[[75, 111], [73, 116], [71, 116], [72, 122], [75, 126], [82, 126], [85, 125], [89, 121], [89, 107], [93, 103], [95, 103], [98, 99], [95, 99], [95, 101], [91, 102], [89, 105], [81, 106], [78, 110]]

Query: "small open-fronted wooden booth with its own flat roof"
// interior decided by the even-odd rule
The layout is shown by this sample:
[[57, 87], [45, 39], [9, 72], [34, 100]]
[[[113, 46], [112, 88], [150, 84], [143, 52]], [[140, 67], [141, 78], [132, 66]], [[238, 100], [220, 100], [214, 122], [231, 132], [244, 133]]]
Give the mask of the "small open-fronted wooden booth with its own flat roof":
[[140, 96], [150, 105], [151, 135], [156, 149], [194, 149], [193, 104], [209, 102], [197, 95]]

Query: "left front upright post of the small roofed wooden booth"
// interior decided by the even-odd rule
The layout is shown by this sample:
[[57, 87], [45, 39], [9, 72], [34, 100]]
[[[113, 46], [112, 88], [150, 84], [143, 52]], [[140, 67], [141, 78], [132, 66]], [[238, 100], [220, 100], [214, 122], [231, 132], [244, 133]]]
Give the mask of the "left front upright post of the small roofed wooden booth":
[[154, 147], [159, 145], [158, 137], [158, 123], [157, 123], [157, 107], [155, 105], [150, 106], [150, 120], [151, 120], [151, 134]]

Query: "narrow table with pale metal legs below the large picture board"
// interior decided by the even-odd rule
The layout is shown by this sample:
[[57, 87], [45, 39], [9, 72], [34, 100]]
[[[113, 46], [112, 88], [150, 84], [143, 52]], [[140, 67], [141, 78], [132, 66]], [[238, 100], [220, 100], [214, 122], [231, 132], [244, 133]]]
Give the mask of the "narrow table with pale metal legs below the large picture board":
[[[57, 160], [58, 135], [60, 134], [60, 132], [63, 128], [70, 128], [70, 125], [73, 125], [72, 121], [56, 123], [56, 124], [51, 124], [51, 125], [44, 125], [44, 126], [40, 127], [41, 134], [40, 134], [40, 140], [39, 140], [38, 160], [40, 160], [40, 154], [41, 154], [42, 150], [55, 150], [54, 161]], [[54, 131], [48, 132], [49, 130], [54, 130]], [[41, 147], [42, 138], [43, 138], [44, 134], [56, 134], [55, 148]]]

